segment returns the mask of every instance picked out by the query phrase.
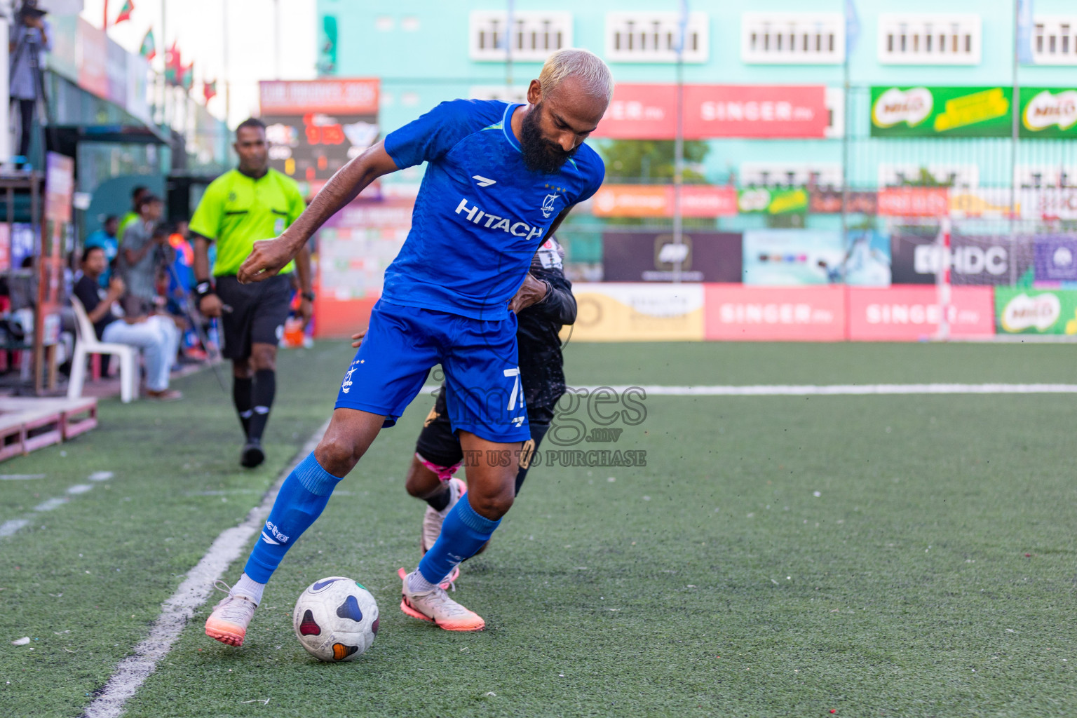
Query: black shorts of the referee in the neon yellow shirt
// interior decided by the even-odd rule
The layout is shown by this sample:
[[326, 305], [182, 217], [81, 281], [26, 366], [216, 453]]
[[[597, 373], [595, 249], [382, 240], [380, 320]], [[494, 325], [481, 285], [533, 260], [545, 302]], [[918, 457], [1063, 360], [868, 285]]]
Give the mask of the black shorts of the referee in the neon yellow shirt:
[[277, 346], [284, 336], [284, 321], [292, 304], [292, 276], [278, 274], [263, 282], [240, 284], [234, 276], [216, 278], [216, 296], [228, 309], [221, 312], [225, 358], [243, 360], [251, 344]]

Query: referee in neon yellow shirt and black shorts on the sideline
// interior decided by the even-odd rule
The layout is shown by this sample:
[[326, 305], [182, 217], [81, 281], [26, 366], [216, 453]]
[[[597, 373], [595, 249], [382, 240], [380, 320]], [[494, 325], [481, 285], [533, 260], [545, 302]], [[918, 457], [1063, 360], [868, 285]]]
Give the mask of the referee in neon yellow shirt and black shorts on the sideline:
[[[290, 272], [298, 276], [304, 324], [310, 321], [314, 294], [306, 248], [277, 277], [252, 284], [236, 279], [254, 242], [283, 233], [303, 213], [304, 201], [295, 181], [269, 167], [266, 126], [261, 121], [242, 122], [233, 146], [239, 167], [206, 188], [191, 217], [191, 234], [198, 309], [206, 316], [221, 318], [222, 353], [232, 360], [232, 397], [247, 437], [239, 463], [254, 467], [265, 461], [262, 434], [277, 391], [277, 342], [292, 302]], [[212, 278], [210, 242], [216, 242]]]

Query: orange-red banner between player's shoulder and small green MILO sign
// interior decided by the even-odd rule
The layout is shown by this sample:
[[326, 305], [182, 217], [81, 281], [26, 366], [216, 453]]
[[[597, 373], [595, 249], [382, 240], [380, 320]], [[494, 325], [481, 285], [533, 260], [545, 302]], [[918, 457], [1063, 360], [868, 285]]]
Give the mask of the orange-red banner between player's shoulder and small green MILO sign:
[[[673, 216], [673, 185], [605, 184], [595, 193], [595, 216]], [[681, 214], [717, 217], [737, 214], [737, 189], [705, 184], [681, 187]]]

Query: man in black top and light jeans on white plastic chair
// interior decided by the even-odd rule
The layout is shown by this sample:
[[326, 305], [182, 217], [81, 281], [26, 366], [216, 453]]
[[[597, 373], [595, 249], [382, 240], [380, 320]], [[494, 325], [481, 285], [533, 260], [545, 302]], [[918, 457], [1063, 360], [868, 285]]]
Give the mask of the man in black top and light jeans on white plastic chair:
[[[179, 349], [180, 330], [168, 316], [150, 316], [140, 311], [141, 302], [129, 300], [129, 295], [125, 295], [124, 281], [118, 277], [112, 279], [107, 291], [100, 290], [98, 279], [107, 265], [101, 248], [87, 247], [82, 253], [82, 276], [74, 285], [74, 295], [86, 308], [97, 338], [142, 350], [145, 357], [146, 397], [163, 402], [181, 398], [183, 395], [180, 392], [168, 388], [169, 370]], [[115, 309], [117, 300], [122, 298], [135, 311], [120, 319]]]

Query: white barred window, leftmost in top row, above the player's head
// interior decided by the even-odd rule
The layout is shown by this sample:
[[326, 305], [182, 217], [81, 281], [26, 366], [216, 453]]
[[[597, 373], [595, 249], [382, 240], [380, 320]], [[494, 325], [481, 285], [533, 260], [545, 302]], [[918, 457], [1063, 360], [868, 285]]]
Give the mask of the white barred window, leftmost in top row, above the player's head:
[[[508, 14], [504, 11], [473, 10], [467, 31], [471, 59], [504, 62], [506, 52], [503, 33], [507, 23]], [[550, 53], [561, 47], [572, 47], [572, 13], [517, 10], [513, 13], [513, 61], [543, 62]], [[550, 33], [548, 38], [547, 32]], [[560, 44], [557, 42], [558, 33]]]

